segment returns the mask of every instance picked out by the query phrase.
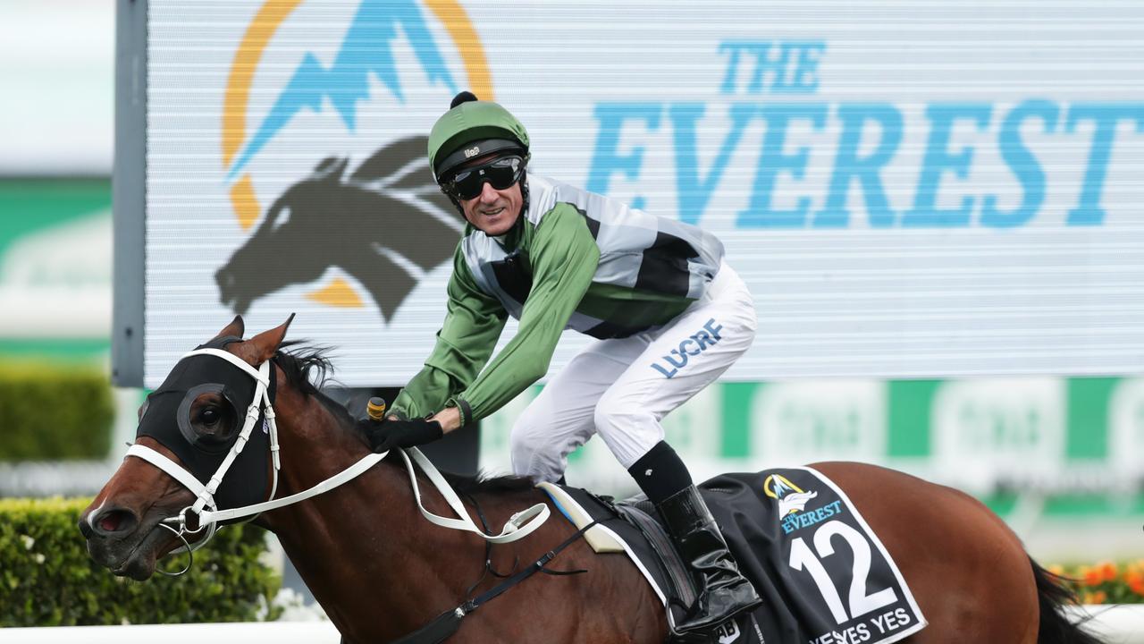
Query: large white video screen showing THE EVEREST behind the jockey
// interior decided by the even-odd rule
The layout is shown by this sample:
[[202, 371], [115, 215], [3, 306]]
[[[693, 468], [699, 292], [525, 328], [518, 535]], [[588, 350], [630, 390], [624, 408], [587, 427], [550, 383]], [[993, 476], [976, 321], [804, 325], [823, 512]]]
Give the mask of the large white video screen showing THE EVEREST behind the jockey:
[[1144, 7], [1068, 5], [151, 0], [144, 384], [236, 313], [415, 374], [463, 89], [531, 173], [723, 239], [760, 320], [728, 380], [1138, 372]]

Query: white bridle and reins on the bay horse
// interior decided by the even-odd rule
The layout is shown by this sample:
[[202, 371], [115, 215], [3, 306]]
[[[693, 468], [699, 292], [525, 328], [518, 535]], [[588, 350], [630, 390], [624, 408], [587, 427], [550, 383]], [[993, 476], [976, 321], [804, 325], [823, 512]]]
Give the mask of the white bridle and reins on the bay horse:
[[[238, 367], [245, 371], [248, 376], [255, 380], [254, 399], [246, 409], [245, 421], [243, 423], [243, 430], [239, 432], [235, 445], [231, 446], [230, 451], [227, 454], [222, 464], [210, 477], [210, 479], [204, 485], [196, 478], [191, 472], [186, 471], [185, 468], [178, 463], [172, 461], [164, 454], [151, 449], [145, 445], [135, 443], [132, 445], [127, 450], [127, 456], [135, 456], [136, 458], [142, 458], [148, 463], [151, 463], [156, 468], [162, 470], [172, 478], [177, 480], [183, 487], [190, 489], [194, 495], [194, 503], [183, 508], [178, 515], [174, 517], [167, 517], [159, 523], [159, 526], [170, 531], [180, 541], [183, 542], [183, 547], [176, 549], [174, 552], [188, 552], [191, 556], [191, 560], [186, 564], [182, 571], [177, 573], [167, 573], [164, 571], [158, 571], [167, 576], [178, 576], [188, 572], [193, 564], [193, 551], [202, 548], [219, 529], [220, 521], [228, 521], [238, 518], [245, 518], [245, 521], [253, 520], [255, 517], [262, 512], [275, 510], [285, 505], [291, 505], [300, 501], [310, 498], [311, 496], [317, 496], [325, 492], [328, 492], [347, 481], [350, 481], [358, 477], [362, 472], [365, 472], [373, 465], [378, 464], [382, 458], [386, 457], [388, 451], [381, 454], [370, 453], [368, 455], [360, 458], [357, 463], [353, 463], [345, 470], [329, 477], [328, 479], [315, 485], [313, 487], [300, 492], [297, 494], [292, 494], [283, 498], [275, 498], [275, 494], [278, 490], [278, 471], [281, 469], [281, 458], [279, 456], [279, 445], [278, 445], [278, 424], [276, 422], [276, 415], [273, 405], [271, 405], [271, 392], [270, 392], [270, 369], [271, 361], [264, 361], [257, 369], [251, 367], [243, 359], [237, 355], [220, 350], [220, 348], [198, 348], [183, 355], [183, 358], [190, 358], [193, 355], [214, 355], [221, 358], [231, 364]], [[227, 474], [227, 471], [233, 464], [235, 460], [246, 447], [247, 441], [251, 438], [251, 433], [254, 431], [254, 426], [260, 417], [265, 417], [263, 427], [264, 431], [270, 434], [270, 457], [272, 461], [273, 480], [270, 488], [270, 495], [267, 501], [262, 503], [255, 503], [253, 505], [246, 505], [243, 508], [231, 508], [231, 509], [219, 509], [217, 502], [215, 501], [215, 494], [219, 490], [219, 486], [222, 485], [222, 479]], [[445, 480], [445, 478], [437, 471], [431, 462], [418, 448], [410, 448], [399, 451], [402, 458], [405, 460], [406, 469], [410, 473], [410, 482], [413, 487], [414, 498], [418, 502], [418, 508], [420, 508], [421, 513], [431, 523], [447, 527], [451, 529], [460, 529], [466, 532], [472, 532], [490, 543], [508, 543], [516, 541], [524, 536], [527, 536], [533, 531], [539, 528], [543, 524], [549, 515], [550, 510], [545, 503], [538, 503], [531, 508], [522, 510], [513, 515], [509, 520], [505, 524], [500, 534], [490, 535], [485, 533], [469, 517], [468, 510], [461, 502], [460, 497], [453, 490], [452, 486]], [[412, 461], [411, 461], [412, 455]], [[421, 468], [434, 486], [440, 492], [442, 496], [448, 503], [450, 508], [456, 512], [458, 518], [440, 517], [434, 515], [426, 510], [424, 505], [421, 503], [421, 490], [418, 487], [416, 473], [413, 469], [413, 463]], [[191, 528], [189, 525], [188, 516], [194, 515], [197, 518], [197, 527]], [[204, 534], [205, 533], [205, 534]], [[204, 534], [194, 543], [188, 541], [188, 535], [194, 536]]]

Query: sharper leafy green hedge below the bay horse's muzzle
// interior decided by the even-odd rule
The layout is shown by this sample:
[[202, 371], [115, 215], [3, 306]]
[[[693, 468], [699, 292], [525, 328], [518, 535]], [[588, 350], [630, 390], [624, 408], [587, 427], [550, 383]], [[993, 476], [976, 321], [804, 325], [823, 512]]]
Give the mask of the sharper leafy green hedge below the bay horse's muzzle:
[[[0, 500], [0, 627], [254, 621], [281, 579], [260, 560], [265, 533], [231, 526], [178, 578], [145, 582], [97, 566], [76, 527], [90, 500]], [[186, 555], [159, 561], [177, 571]], [[0, 637], [2, 639], [2, 637]]]

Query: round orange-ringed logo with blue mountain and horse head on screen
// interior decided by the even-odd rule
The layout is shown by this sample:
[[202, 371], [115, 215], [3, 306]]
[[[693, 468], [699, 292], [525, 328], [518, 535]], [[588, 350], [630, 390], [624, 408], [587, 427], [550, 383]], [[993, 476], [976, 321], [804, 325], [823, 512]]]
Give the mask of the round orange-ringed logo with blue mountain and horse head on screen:
[[372, 300], [391, 320], [464, 228], [424, 134], [456, 92], [494, 99], [476, 30], [455, 0], [340, 7], [268, 0], [235, 52], [221, 160], [249, 235], [215, 281], [236, 313], [301, 284], [321, 305]]

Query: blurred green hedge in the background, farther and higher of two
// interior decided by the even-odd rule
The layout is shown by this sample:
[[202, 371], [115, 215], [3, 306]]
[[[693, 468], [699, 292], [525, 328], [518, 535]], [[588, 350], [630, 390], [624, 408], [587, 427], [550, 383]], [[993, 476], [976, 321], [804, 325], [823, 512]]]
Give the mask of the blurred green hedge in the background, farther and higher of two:
[[114, 415], [96, 369], [0, 363], [0, 461], [104, 458]]

